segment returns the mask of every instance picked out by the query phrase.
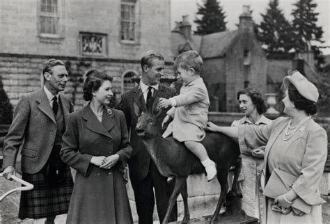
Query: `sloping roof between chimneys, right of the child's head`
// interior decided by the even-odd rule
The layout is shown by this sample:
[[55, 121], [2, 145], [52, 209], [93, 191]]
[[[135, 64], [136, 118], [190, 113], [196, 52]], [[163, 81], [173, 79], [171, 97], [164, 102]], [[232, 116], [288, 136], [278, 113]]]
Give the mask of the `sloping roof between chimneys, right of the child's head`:
[[203, 35], [199, 52], [201, 57], [214, 58], [224, 56], [237, 35], [238, 30]]

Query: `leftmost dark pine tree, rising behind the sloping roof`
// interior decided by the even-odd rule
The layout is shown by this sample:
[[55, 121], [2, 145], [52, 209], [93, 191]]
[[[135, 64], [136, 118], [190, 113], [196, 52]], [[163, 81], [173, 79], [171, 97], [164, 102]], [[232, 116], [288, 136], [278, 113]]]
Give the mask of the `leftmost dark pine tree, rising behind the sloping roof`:
[[194, 31], [195, 34], [205, 35], [226, 31], [226, 15], [223, 13], [217, 0], [205, 0], [203, 6], [198, 3], [197, 6], [197, 15], [201, 15], [202, 17], [201, 19], [196, 17], [194, 21], [197, 24], [197, 31]]

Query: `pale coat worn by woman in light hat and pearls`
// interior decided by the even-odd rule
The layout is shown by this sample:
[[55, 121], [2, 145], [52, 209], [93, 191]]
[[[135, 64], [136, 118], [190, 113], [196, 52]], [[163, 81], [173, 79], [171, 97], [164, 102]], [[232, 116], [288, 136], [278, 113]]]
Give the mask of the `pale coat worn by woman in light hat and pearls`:
[[[298, 177], [292, 185], [292, 189], [298, 197], [308, 205], [312, 205], [310, 214], [293, 216], [292, 214], [281, 215], [281, 223], [319, 223], [322, 221], [321, 206], [324, 202], [320, 197], [318, 187], [320, 185], [324, 165], [327, 160], [327, 132], [310, 119], [299, 127], [292, 138], [285, 141], [281, 148], [273, 147], [278, 138], [282, 138], [283, 131], [288, 125], [290, 118], [278, 118], [269, 125], [256, 127], [253, 125], [241, 125], [239, 127], [239, 147], [259, 147], [266, 145], [265, 168], [263, 175], [265, 183], [269, 179], [269, 161], [276, 159], [276, 168]], [[276, 157], [269, 157], [269, 152]], [[269, 211], [268, 211], [269, 212]], [[265, 212], [265, 216], [268, 212]], [[270, 211], [276, 212], [276, 211]], [[274, 216], [273, 216], [274, 217]], [[270, 220], [264, 217], [267, 223], [278, 223], [278, 220]]]

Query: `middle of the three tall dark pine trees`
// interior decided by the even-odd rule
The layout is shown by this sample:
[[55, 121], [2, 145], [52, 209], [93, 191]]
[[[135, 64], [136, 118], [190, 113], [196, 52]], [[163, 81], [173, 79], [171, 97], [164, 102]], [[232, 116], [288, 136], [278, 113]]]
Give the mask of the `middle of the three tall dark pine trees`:
[[269, 1], [269, 8], [261, 14], [262, 22], [256, 32], [268, 58], [285, 58], [292, 49], [292, 27], [278, 8], [278, 0]]

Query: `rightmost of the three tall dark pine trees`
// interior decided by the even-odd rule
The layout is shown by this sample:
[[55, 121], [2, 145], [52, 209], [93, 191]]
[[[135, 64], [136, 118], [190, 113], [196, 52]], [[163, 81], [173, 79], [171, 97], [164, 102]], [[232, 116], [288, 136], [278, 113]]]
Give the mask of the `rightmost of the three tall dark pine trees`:
[[292, 29], [294, 32], [294, 49], [298, 52], [313, 51], [317, 60], [316, 67], [322, 68], [324, 57], [320, 54], [317, 43], [324, 42], [322, 40], [322, 26], [317, 26], [317, 15], [315, 8], [317, 3], [313, 0], [299, 0], [294, 3], [295, 8], [291, 15], [294, 17], [292, 21]]

